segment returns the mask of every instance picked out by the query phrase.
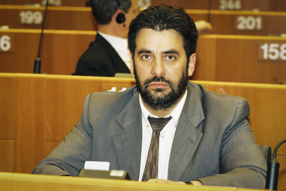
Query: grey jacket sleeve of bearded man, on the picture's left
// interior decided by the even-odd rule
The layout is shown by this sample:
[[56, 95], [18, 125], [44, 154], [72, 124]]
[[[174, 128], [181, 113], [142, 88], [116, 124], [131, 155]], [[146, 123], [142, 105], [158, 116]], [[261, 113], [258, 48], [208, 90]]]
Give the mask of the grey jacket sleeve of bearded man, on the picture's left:
[[92, 153], [92, 128], [88, 124], [89, 101], [90, 95], [84, 100], [78, 123], [64, 136], [59, 146], [36, 166], [32, 174], [77, 176], [84, 168], [84, 162], [91, 159]]

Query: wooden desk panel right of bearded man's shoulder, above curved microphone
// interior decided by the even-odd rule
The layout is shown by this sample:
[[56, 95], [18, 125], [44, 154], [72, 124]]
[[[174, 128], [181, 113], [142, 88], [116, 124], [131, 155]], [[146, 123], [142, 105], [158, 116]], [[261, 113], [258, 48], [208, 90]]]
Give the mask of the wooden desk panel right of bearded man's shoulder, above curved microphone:
[[[286, 86], [242, 84], [241, 91], [241, 96], [251, 103], [249, 122], [257, 144], [270, 145], [274, 150], [278, 142], [286, 138], [286, 117], [277, 117], [286, 116], [286, 109], [275, 109], [286, 108]], [[272, 132], [275, 133], [275, 138], [271, 136]], [[285, 154], [286, 146], [281, 146], [278, 151], [277, 154]]]

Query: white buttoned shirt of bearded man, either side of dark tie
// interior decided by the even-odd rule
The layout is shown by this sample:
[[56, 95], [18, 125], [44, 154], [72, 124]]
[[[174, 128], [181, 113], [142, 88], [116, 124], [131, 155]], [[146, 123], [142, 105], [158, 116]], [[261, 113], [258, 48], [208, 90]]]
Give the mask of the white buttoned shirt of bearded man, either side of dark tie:
[[[180, 100], [179, 104], [176, 108], [167, 116], [172, 116], [172, 119], [166, 124], [166, 126], [160, 132], [159, 139], [159, 162], [158, 162], [158, 178], [167, 180], [168, 178], [168, 166], [170, 153], [172, 148], [172, 143], [176, 131], [176, 126], [178, 124], [181, 112], [183, 110], [185, 101], [187, 97], [187, 91], [183, 95], [182, 100]], [[147, 117], [150, 115], [151, 117], [156, 117], [152, 115], [143, 105], [142, 98], [139, 94], [139, 102], [142, 112], [142, 148], [141, 148], [141, 163], [140, 163], [140, 173], [139, 173], [139, 182], [142, 180], [142, 176], [145, 169], [145, 164], [148, 156], [148, 150], [150, 146], [151, 136], [152, 136], [152, 128], [150, 122]], [[148, 127], [147, 127], [148, 126]]]

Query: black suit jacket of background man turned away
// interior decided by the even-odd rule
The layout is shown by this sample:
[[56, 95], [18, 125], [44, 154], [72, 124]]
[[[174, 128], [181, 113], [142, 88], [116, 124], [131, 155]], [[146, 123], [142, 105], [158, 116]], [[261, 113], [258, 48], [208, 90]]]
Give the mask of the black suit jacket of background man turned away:
[[115, 73], [130, 73], [130, 70], [110, 43], [97, 34], [72, 75], [114, 77]]

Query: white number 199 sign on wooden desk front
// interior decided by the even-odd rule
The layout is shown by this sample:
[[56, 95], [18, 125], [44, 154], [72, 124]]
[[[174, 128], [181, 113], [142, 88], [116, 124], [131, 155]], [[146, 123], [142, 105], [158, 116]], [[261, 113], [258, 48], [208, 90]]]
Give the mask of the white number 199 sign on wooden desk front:
[[21, 11], [19, 16], [21, 19], [21, 24], [25, 25], [39, 25], [43, 21], [43, 14], [40, 11]]

